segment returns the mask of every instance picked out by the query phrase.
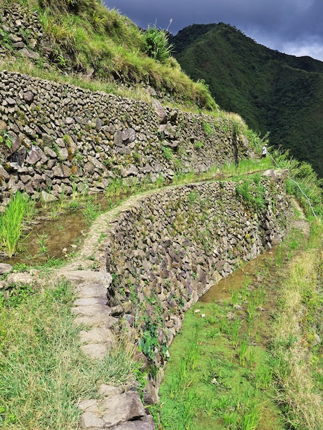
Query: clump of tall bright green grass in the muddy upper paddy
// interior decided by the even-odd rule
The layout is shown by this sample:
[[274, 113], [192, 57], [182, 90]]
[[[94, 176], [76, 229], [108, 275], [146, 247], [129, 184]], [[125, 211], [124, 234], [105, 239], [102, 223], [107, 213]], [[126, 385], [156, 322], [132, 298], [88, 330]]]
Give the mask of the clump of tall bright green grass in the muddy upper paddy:
[[23, 225], [30, 217], [34, 204], [30, 198], [19, 191], [12, 194], [5, 211], [0, 215], [0, 244], [11, 258], [23, 234]]

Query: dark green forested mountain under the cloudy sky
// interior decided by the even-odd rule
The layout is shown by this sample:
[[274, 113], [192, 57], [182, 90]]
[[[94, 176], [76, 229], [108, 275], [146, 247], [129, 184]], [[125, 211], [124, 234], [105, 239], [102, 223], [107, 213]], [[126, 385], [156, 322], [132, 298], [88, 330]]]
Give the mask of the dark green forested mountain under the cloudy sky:
[[170, 35], [173, 56], [204, 80], [217, 104], [240, 114], [271, 145], [311, 163], [323, 177], [323, 63], [282, 54], [225, 23], [190, 25]]

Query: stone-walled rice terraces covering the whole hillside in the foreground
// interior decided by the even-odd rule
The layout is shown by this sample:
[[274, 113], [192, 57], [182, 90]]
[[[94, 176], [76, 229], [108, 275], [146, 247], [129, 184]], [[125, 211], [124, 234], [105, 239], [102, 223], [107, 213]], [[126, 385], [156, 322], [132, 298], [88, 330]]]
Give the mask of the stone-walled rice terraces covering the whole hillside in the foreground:
[[313, 167], [101, 1], [1, 0], [0, 66], [0, 428], [321, 430]]

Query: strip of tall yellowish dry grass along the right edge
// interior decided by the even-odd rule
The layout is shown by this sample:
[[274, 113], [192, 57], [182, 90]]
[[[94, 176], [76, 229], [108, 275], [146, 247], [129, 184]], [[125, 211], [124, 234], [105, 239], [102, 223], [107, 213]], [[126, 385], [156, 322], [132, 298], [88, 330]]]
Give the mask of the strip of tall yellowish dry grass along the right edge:
[[[315, 355], [313, 324], [322, 331], [322, 221], [312, 224], [309, 249], [291, 264], [280, 288], [280, 312], [274, 324], [277, 398], [293, 428], [323, 429], [323, 392], [315, 383], [320, 373]], [[321, 269], [320, 269], [321, 267]]]

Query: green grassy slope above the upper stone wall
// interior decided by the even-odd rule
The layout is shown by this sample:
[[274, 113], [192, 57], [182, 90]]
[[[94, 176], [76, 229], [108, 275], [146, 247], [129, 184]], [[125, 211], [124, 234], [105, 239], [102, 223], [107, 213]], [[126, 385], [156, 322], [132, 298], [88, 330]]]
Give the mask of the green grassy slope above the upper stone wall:
[[[5, 0], [3, 6], [10, 7], [13, 2]], [[208, 88], [188, 78], [170, 56], [171, 47], [164, 30], [151, 28], [143, 32], [126, 16], [96, 0], [21, 0], [21, 3], [27, 10], [38, 12], [52, 49], [52, 67], [44, 70], [47, 59], [41, 56], [34, 63], [25, 58], [23, 61], [10, 58], [1, 68], [21, 73], [27, 70], [28, 74], [43, 78], [52, 75], [54, 80], [78, 81], [81, 87], [91, 89], [130, 93], [122, 89], [122, 83], [136, 87], [133, 93], [137, 98], [150, 97], [143, 89], [149, 82], [159, 93], [168, 93], [173, 102], [216, 109]], [[1, 33], [0, 41], [4, 38]], [[68, 78], [64, 76], [66, 71]]]

